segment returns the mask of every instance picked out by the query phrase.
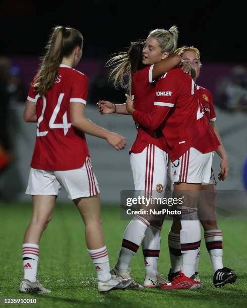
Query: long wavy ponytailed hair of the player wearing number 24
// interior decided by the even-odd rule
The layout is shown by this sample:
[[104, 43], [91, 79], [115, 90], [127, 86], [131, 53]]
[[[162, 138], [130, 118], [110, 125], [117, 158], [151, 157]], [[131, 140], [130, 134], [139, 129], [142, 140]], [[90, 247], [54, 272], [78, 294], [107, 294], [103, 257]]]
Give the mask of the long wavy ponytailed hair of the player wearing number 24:
[[41, 96], [46, 95], [53, 86], [63, 57], [71, 55], [76, 46], [83, 46], [83, 36], [78, 30], [61, 26], [53, 29], [33, 82], [35, 90]]

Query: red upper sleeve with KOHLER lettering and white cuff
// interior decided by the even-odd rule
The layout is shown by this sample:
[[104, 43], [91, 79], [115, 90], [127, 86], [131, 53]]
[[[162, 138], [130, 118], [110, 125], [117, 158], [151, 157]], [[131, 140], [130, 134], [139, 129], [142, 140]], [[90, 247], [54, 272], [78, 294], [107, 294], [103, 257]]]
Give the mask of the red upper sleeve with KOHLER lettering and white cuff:
[[174, 107], [179, 96], [180, 87], [177, 86], [177, 78], [165, 73], [156, 84], [154, 106]]

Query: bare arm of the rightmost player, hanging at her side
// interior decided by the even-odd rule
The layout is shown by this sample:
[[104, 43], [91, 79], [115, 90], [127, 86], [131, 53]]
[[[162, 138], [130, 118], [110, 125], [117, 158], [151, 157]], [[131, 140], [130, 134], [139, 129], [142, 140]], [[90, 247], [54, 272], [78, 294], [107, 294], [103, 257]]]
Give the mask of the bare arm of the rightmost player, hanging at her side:
[[213, 128], [219, 142], [220, 142], [220, 145], [219, 147], [217, 148], [216, 150], [216, 153], [219, 155], [219, 157], [221, 158], [221, 162], [220, 162], [220, 174], [219, 174], [219, 177], [218, 179], [220, 181], [224, 181], [226, 179], [226, 177], [228, 176], [228, 173], [229, 173], [229, 167], [228, 167], [228, 158], [227, 158], [227, 154], [226, 154], [226, 151], [225, 151], [225, 148], [224, 148], [224, 145], [222, 143], [222, 140], [220, 138], [220, 133], [219, 133], [219, 130], [215, 124], [215, 121], [210, 121], [210, 125], [211, 127]]

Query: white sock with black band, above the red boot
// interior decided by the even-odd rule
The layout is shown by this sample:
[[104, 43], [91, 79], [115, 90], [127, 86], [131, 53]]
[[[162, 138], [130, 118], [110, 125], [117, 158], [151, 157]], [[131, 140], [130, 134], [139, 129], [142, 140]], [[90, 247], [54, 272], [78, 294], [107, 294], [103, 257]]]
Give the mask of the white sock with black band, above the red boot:
[[196, 271], [198, 248], [201, 242], [201, 227], [198, 220], [181, 220], [180, 243], [183, 254], [181, 271], [191, 277]]

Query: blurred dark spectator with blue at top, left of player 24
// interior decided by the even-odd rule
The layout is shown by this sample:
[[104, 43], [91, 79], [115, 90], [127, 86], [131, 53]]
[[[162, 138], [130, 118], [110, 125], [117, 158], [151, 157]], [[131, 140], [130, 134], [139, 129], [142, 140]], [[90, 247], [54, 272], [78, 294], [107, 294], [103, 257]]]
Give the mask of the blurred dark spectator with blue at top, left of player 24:
[[26, 102], [26, 89], [21, 81], [21, 68], [19, 65], [10, 67], [8, 92], [11, 104]]

